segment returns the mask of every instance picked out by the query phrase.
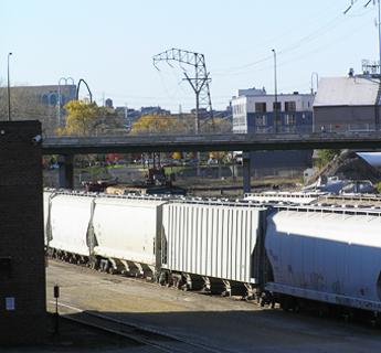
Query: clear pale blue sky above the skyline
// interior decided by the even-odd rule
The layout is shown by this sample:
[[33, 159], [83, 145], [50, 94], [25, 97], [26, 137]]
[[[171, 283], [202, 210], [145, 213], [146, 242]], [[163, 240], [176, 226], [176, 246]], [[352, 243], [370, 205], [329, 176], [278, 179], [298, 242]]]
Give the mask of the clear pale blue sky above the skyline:
[[224, 109], [240, 88], [274, 93], [275, 49], [278, 94], [309, 93], [313, 73], [340, 77], [379, 60], [378, 7], [367, 2], [343, 14], [351, 0], [2, 0], [0, 83], [12, 52], [11, 86], [83, 78], [98, 105], [186, 113], [195, 98], [182, 68], [152, 61], [180, 49], [204, 54], [212, 106]]

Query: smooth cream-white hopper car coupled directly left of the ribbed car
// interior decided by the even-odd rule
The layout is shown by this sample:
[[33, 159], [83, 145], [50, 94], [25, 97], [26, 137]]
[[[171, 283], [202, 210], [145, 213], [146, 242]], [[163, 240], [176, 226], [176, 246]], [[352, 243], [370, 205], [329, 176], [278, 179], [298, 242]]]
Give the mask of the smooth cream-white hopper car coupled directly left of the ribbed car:
[[152, 277], [160, 268], [161, 197], [97, 196], [94, 256], [110, 272]]

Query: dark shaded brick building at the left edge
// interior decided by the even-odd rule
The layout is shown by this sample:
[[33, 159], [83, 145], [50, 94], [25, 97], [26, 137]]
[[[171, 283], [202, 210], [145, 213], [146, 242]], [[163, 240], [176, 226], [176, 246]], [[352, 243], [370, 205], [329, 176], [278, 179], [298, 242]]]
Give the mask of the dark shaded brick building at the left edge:
[[46, 338], [39, 121], [0, 121], [0, 346]]

